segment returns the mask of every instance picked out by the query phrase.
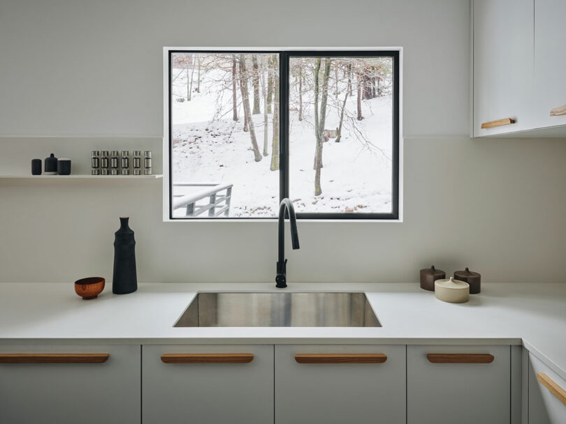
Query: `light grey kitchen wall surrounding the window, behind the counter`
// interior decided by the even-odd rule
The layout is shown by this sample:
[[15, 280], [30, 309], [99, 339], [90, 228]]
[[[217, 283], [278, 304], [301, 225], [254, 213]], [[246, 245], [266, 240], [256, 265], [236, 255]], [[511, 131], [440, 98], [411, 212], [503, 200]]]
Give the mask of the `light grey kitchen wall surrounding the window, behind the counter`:
[[[467, 138], [469, 43], [467, 0], [3, 0], [0, 174], [157, 151], [163, 46], [402, 46], [405, 222], [300, 222], [289, 280], [564, 281], [566, 141]], [[140, 281], [273, 280], [274, 222], [161, 222], [159, 180], [0, 179], [0, 281], [110, 280], [119, 215]]]

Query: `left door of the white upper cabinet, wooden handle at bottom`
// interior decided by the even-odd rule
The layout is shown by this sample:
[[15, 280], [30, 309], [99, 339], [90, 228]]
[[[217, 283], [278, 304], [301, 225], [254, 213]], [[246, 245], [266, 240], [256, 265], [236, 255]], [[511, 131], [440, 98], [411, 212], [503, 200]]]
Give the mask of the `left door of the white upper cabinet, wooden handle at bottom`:
[[[474, 0], [474, 136], [529, 130], [534, 0]], [[516, 123], [482, 129], [511, 118]]]

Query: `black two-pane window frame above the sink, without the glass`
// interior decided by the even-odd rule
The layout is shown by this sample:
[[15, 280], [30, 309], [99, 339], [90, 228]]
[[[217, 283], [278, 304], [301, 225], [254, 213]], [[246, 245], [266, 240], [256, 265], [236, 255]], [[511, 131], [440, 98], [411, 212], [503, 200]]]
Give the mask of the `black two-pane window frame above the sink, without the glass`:
[[199, 220], [274, 220], [272, 217], [217, 217], [174, 218], [173, 217], [173, 54], [218, 53], [218, 54], [278, 54], [279, 55], [279, 105], [280, 105], [280, 188], [279, 200], [289, 197], [289, 59], [291, 57], [391, 57], [393, 59], [393, 107], [392, 107], [392, 188], [390, 213], [363, 212], [298, 212], [297, 219], [307, 220], [398, 220], [400, 204], [400, 51], [399, 50], [168, 50], [168, 160], [169, 160], [169, 219], [175, 221]]

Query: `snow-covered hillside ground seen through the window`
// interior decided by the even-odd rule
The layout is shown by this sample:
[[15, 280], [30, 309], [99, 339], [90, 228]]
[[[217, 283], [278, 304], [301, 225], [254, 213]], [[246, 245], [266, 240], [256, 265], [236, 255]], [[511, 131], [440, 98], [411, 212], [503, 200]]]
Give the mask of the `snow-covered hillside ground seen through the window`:
[[[177, 76], [178, 75], [178, 76]], [[249, 132], [243, 131], [243, 108], [238, 96], [238, 118], [232, 120], [231, 76], [224, 70], [201, 75], [201, 93], [191, 101], [177, 102], [187, 93], [187, 75], [173, 69], [173, 183], [232, 183], [231, 217], [273, 217], [279, 204], [279, 172], [270, 170], [273, 114], [269, 114], [268, 156], [254, 161]], [[196, 78], [196, 74], [195, 74]], [[224, 78], [223, 84], [218, 82]], [[196, 86], [196, 82], [193, 82]], [[252, 86], [249, 86], [252, 103]], [[345, 91], [338, 93], [338, 103]], [[263, 94], [261, 94], [263, 96]], [[335, 96], [329, 89], [328, 96]], [[303, 95], [309, 100], [308, 93]], [[263, 98], [262, 98], [263, 100]], [[291, 93], [291, 101], [296, 95]], [[335, 100], [335, 99], [331, 99]], [[331, 100], [329, 102], [331, 103]], [[312, 104], [290, 116], [289, 197], [299, 212], [391, 212], [391, 97], [363, 100], [364, 119], [356, 120], [356, 92], [347, 100], [342, 139], [324, 143], [321, 169], [322, 194], [314, 195], [316, 140]], [[336, 108], [327, 111], [325, 128], [338, 127]], [[263, 151], [263, 101], [261, 114], [253, 115], [256, 137]], [[201, 188], [192, 188], [192, 190]], [[208, 203], [208, 199], [200, 204]], [[184, 209], [174, 216], [184, 216]]]

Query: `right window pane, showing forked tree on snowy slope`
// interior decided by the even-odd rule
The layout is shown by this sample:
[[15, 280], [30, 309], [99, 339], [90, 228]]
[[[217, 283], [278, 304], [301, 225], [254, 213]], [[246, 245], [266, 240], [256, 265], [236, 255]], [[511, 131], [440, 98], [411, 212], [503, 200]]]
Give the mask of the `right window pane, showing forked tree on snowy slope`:
[[392, 57], [291, 57], [289, 197], [296, 211], [391, 213], [392, 126]]

